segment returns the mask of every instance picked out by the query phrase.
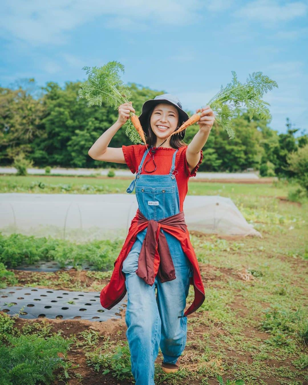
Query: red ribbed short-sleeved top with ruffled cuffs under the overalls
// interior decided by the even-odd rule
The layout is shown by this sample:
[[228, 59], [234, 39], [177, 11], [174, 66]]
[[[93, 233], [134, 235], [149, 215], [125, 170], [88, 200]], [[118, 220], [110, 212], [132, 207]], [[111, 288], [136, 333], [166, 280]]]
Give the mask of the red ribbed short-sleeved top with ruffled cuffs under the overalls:
[[[153, 147], [156, 149], [157, 147]], [[146, 147], [143, 144], [132, 144], [131, 146], [122, 146], [124, 158], [127, 166], [133, 174], [138, 171], [138, 166], [141, 163], [142, 156]], [[203, 152], [200, 151], [200, 160], [197, 166], [190, 172], [188, 168], [188, 163], [186, 159], [186, 150], [187, 146], [179, 148], [179, 151], [176, 153], [175, 160], [175, 169], [178, 171], [176, 174], [177, 188], [179, 190], [179, 199], [180, 199], [180, 211], [183, 210], [183, 203], [188, 191], [188, 180], [191, 176], [196, 176], [196, 172], [199, 168], [199, 165], [203, 159]], [[172, 164], [172, 156], [176, 150], [174, 148], [167, 147], [158, 147], [157, 152], [154, 155], [154, 160], [156, 163], [156, 171], [148, 173], [144, 171], [144, 165], [150, 156], [147, 154], [146, 159], [144, 159], [141, 175], [166, 175], [169, 174]], [[151, 152], [150, 152], [151, 154]], [[147, 170], [154, 169], [153, 158], [146, 165]]]

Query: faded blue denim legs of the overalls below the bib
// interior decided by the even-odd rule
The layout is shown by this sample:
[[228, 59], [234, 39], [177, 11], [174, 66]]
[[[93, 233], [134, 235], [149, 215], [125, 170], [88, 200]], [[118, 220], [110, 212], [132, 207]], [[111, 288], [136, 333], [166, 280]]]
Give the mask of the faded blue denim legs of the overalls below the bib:
[[[137, 234], [136, 242], [123, 262], [128, 302], [126, 337], [131, 352], [132, 374], [136, 385], [154, 385], [154, 362], [161, 348], [164, 362], [176, 363], [186, 345], [187, 317], [184, 315], [192, 268], [179, 241], [161, 230], [167, 239], [176, 279], [147, 285], [135, 271], [147, 229]], [[155, 293], [157, 291], [157, 295]]]

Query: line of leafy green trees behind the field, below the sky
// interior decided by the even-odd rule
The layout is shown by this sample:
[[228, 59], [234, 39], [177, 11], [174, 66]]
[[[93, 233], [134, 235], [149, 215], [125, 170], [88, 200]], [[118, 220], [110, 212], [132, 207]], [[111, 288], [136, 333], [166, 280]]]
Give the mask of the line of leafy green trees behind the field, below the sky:
[[[88, 151], [96, 139], [118, 117], [118, 112], [108, 105], [87, 107], [87, 101], [77, 95], [80, 82], [66, 82], [60, 87], [48, 82], [44, 87], [34, 87], [34, 79], [27, 79], [18, 87], [0, 87], [0, 164], [8, 166], [24, 154], [34, 166], [61, 167], [125, 167], [121, 164], [95, 161]], [[166, 91], [151, 90], [129, 83], [133, 106], [141, 112], [147, 99]], [[187, 111], [189, 115], [191, 111]], [[261, 176], [294, 176], [290, 157], [299, 149], [307, 148], [305, 131], [295, 137], [298, 129], [291, 127], [286, 118], [286, 133], [278, 134], [269, 122], [248, 114], [234, 117], [235, 138], [229, 139], [226, 131], [216, 122], [203, 148], [204, 160], [200, 171], [240, 172], [253, 168]], [[198, 132], [197, 125], [186, 130], [184, 141], [188, 144]], [[110, 142], [110, 147], [132, 144], [123, 126]], [[301, 152], [303, 152], [301, 150]], [[307, 151], [301, 157], [306, 157]]]

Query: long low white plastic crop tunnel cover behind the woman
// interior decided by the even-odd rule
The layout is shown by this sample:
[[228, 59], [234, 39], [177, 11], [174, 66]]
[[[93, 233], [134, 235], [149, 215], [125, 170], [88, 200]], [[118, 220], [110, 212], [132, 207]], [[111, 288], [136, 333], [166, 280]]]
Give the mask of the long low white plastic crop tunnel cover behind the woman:
[[[125, 238], [137, 208], [134, 194], [0, 194], [0, 231], [78, 242]], [[188, 230], [261, 237], [230, 198], [188, 195], [183, 210]]]

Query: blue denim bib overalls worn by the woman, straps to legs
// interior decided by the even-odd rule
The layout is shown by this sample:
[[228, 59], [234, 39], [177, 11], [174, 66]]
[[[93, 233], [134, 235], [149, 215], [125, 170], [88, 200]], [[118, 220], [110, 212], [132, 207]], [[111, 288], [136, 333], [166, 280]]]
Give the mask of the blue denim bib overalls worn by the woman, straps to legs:
[[[167, 175], [141, 175], [147, 155], [144, 152], [136, 178], [127, 188], [131, 193], [136, 184], [136, 197], [141, 213], [147, 219], [159, 221], [179, 213], [179, 191], [174, 176], [176, 150]], [[136, 385], [154, 385], [154, 362], [161, 348], [164, 362], [176, 363], [186, 345], [187, 318], [184, 315], [191, 264], [181, 244], [171, 234], [164, 233], [174, 264], [176, 279], [147, 285], [136, 275], [138, 258], [147, 229], [137, 234], [131, 251], [124, 259], [122, 272], [128, 294], [126, 308], [126, 337], [131, 352], [132, 374]], [[157, 296], [155, 296], [155, 288]], [[181, 318], [179, 318], [181, 317]]]

